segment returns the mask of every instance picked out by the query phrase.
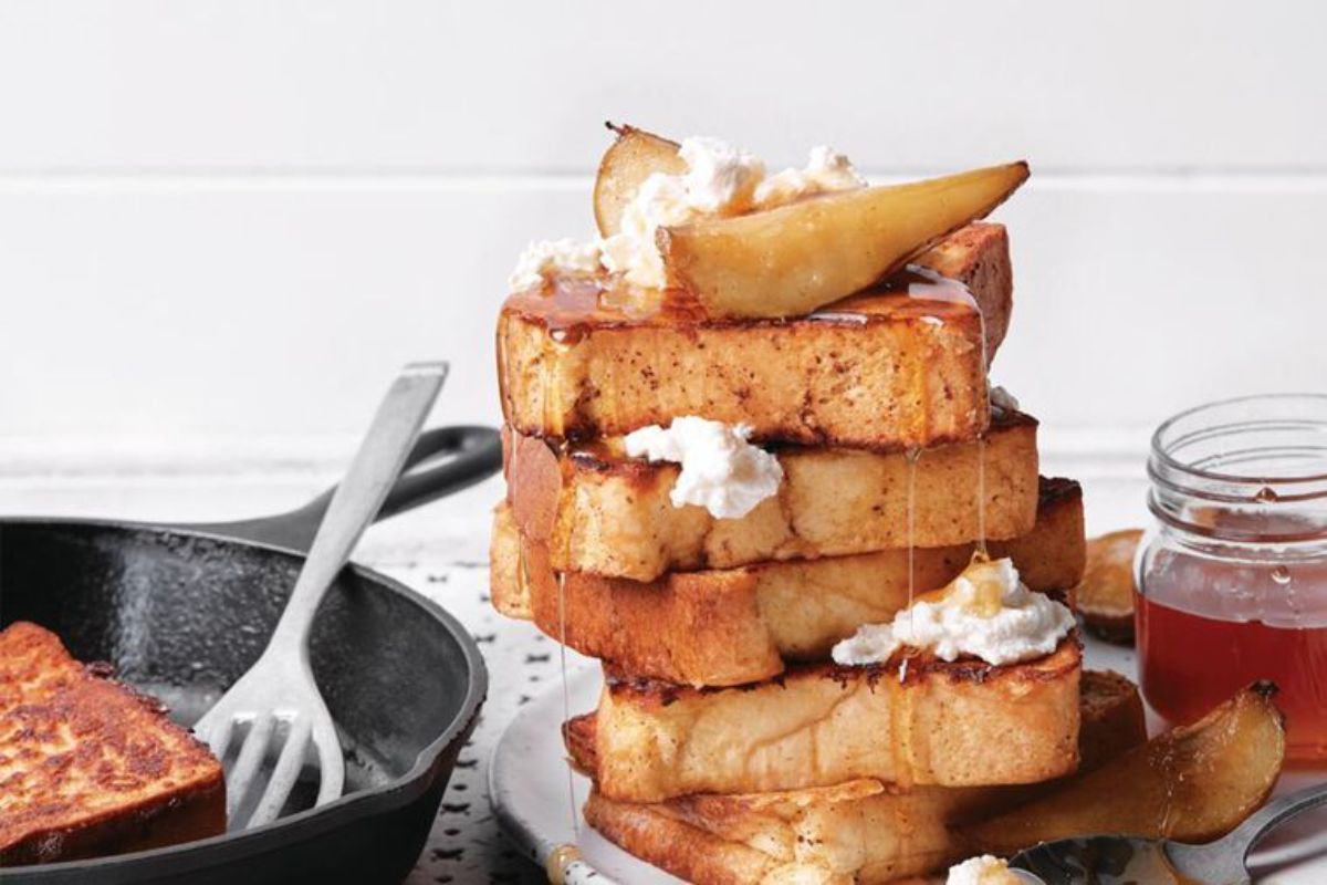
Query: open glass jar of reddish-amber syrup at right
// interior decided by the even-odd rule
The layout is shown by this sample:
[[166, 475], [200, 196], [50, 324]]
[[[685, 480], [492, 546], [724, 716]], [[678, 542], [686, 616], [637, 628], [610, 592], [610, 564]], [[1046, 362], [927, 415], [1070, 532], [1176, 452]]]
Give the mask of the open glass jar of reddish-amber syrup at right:
[[1148, 462], [1156, 523], [1139, 551], [1139, 677], [1192, 722], [1270, 679], [1287, 758], [1327, 760], [1327, 395], [1181, 413]]

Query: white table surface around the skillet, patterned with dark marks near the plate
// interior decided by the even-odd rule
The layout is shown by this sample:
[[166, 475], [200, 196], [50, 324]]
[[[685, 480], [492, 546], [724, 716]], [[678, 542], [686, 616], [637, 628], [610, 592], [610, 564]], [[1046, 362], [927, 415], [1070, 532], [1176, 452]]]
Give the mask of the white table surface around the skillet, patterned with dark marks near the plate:
[[[1088, 531], [1143, 524], [1140, 459], [1043, 456], [1043, 472], [1084, 480]], [[295, 507], [334, 479], [334, 464], [269, 468], [135, 470], [42, 474], [0, 470], [0, 513], [82, 515], [150, 520], [257, 516]], [[377, 525], [357, 561], [381, 569], [455, 614], [479, 642], [488, 665], [488, 699], [434, 824], [410, 885], [543, 882], [543, 870], [499, 833], [484, 793], [492, 747], [516, 710], [560, 678], [556, 644], [533, 626], [510, 621], [488, 602], [488, 520], [503, 495], [499, 479]], [[569, 654], [569, 665], [583, 659]], [[556, 735], [549, 736], [551, 740]]]

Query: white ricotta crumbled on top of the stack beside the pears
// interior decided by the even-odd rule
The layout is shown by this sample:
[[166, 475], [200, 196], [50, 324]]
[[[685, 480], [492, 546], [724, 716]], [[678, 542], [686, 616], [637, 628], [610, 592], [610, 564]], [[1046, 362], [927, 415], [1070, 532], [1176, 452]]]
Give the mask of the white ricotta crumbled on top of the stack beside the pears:
[[667, 285], [656, 234], [661, 227], [697, 218], [726, 218], [784, 206], [803, 196], [864, 187], [848, 158], [832, 147], [811, 150], [805, 169], [787, 169], [766, 178], [764, 162], [718, 138], [682, 141], [681, 175], [654, 172], [622, 210], [618, 232], [591, 243], [553, 240], [532, 243], [511, 276], [515, 291], [539, 285], [555, 273], [605, 269], [641, 288]]

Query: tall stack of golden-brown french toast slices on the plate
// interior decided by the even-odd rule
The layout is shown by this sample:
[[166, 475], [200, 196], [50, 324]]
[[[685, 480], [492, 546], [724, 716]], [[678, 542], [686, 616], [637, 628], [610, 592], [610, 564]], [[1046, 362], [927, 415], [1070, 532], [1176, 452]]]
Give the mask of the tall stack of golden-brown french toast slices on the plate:
[[[587, 820], [626, 851], [698, 882], [936, 872], [974, 848], [959, 823], [1143, 739], [1132, 686], [1084, 674], [1074, 633], [999, 665], [832, 657], [974, 557], [1058, 598], [1082, 579], [1082, 491], [1039, 476], [1036, 421], [990, 394], [1006, 230], [961, 224], [768, 317], [726, 314], [669, 263], [693, 232], [658, 231], [681, 295], [645, 309], [618, 277], [556, 271], [504, 304], [494, 605], [602, 661], [564, 738], [594, 782]], [[693, 417], [772, 456], [772, 494], [679, 504], [691, 467], [633, 437]]]

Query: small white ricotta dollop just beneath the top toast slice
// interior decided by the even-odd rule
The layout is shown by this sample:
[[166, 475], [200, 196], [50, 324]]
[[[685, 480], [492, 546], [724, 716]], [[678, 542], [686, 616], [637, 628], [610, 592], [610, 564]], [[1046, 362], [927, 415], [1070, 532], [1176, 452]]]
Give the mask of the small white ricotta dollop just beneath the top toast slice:
[[686, 415], [666, 429], [650, 425], [628, 434], [626, 454], [682, 466], [669, 492], [674, 507], [695, 504], [718, 519], [738, 519], [776, 495], [783, 482], [779, 459], [750, 437], [746, 425]]

